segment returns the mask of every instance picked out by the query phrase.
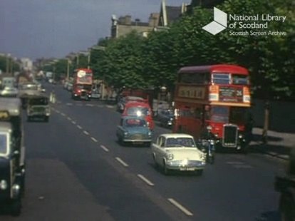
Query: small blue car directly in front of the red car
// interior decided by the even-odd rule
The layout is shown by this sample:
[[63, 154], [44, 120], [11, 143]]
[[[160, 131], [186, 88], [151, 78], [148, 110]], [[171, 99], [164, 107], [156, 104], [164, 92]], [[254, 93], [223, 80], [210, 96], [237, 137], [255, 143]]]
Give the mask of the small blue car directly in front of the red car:
[[152, 131], [148, 128], [148, 123], [137, 116], [122, 117], [116, 135], [121, 145], [139, 143], [150, 146], [152, 142]]

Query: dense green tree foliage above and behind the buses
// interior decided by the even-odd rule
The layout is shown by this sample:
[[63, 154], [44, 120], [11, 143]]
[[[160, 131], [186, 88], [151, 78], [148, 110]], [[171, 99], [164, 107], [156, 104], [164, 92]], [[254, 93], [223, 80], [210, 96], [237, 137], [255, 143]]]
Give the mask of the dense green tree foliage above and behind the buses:
[[217, 8], [227, 14], [286, 16], [284, 22], [269, 21], [268, 30], [287, 35], [230, 34], [230, 30], [243, 31], [237, 27], [214, 36], [202, 29], [213, 21], [212, 9], [196, 7], [170, 29], [154, 31], [148, 38], [133, 32], [100, 39], [98, 45], [105, 46], [105, 51], [95, 51], [91, 65], [99, 78], [115, 88], [167, 86], [172, 90], [182, 66], [234, 63], [249, 69], [254, 96], [294, 97], [294, 4], [290, 0], [227, 0]]

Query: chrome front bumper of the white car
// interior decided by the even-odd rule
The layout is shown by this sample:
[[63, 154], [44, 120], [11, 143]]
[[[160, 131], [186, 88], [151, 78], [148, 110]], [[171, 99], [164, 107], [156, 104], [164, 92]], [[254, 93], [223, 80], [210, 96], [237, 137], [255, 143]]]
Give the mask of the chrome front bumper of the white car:
[[172, 160], [167, 161], [166, 167], [169, 170], [180, 170], [180, 171], [195, 171], [203, 170], [206, 163], [198, 160]]

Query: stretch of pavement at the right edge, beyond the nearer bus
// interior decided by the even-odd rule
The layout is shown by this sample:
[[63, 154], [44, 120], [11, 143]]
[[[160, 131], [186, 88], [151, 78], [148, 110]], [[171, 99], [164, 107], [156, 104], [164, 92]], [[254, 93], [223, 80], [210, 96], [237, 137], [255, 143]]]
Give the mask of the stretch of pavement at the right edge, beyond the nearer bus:
[[262, 128], [253, 128], [252, 133], [253, 139], [250, 143], [250, 149], [253, 152], [257, 151], [288, 160], [291, 148], [295, 148], [295, 133], [281, 133], [268, 130], [266, 143], [263, 141]]

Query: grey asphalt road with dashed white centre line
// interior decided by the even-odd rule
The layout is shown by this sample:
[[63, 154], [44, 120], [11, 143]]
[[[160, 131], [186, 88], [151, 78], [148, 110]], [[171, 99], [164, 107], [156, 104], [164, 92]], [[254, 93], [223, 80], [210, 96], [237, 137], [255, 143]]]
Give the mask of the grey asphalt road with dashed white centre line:
[[[165, 176], [150, 148], [117, 143], [114, 106], [72, 101], [61, 86], [54, 91], [49, 123], [24, 122], [23, 213], [0, 220], [278, 220], [274, 176], [284, 161], [219, 153], [202, 176]], [[154, 139], [169, 131], [156, 126]]]

